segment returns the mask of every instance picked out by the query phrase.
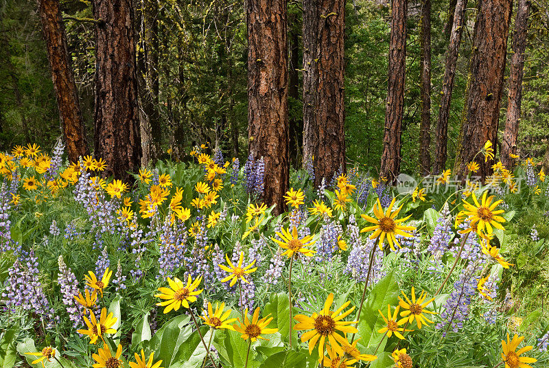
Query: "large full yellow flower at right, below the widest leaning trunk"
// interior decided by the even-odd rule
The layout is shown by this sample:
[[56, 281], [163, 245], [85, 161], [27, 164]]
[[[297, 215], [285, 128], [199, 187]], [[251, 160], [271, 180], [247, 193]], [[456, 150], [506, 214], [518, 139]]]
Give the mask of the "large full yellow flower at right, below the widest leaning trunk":
[[488, 191], [482, 194], [482, 200], [478, 202], [475, 194], [473, 193], [474, 205], [463, 200], [463, 207], [465, 207], [465, 215], [468, 216], [467, 220], [471, 222], [471, 225], [476, 224], [478, 233], [493, 233], [492, 227], [496, 229], [504, 230], [504, 227], [500, 222], [505, 222], [505, 219], [500, 214], [503, 214], [503, 209], [495, 210], [503, 200], [496, 200], [492, 203], [494, 196], [486, 198]]

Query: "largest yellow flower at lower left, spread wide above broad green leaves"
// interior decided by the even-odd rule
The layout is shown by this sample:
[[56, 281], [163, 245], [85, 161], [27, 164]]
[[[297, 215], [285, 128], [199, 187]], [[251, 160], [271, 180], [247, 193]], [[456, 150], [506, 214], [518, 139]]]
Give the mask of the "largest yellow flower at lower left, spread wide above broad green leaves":
[[170, 312], [170, 310], [179, 310], [181, 306], [189, 308], [189, 303], [196, 301], [196, 295], [199, 295], [200, 292], [204, 289], [196, 290], [200, 282], [202, 281], [202, 276], [197, 277], [194, 281], [189, 275], [187, 279], [187, 285], [183, 283], [177, 277], [174, 279], [167, 278], [167, 283], [170, 284], [170, 288], [159, 288], [161, 294], [154, 295], [157, 298], [165, 299], [159, 303], [156, 303], [156, 306], [166, 307], [164, 308], [164, 314]]

